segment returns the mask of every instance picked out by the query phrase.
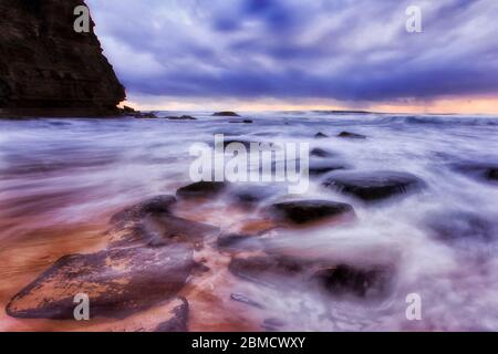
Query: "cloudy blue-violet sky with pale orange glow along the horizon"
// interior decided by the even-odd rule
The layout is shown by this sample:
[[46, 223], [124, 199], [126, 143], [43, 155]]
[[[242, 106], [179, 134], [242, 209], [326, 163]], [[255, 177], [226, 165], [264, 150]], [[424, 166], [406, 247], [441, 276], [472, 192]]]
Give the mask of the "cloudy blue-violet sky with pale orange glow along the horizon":
[[138, 108], [498, 113], [497, 0], [86, 3]]

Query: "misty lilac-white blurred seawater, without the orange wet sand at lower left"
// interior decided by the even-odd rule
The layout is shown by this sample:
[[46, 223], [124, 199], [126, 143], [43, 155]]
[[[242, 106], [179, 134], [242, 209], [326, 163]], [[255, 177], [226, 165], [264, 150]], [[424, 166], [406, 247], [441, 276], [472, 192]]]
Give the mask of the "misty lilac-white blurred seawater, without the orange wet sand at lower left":
[[[378, 207], [364, 206], [312, 179], [302, 198], [346, 201], [357, 221], [308, 231], [276, 231], [272, 251], [313, 254], [353, 264], [394, 263], [395, 288], [381, 304], [343, 303], [295, 288], [259, 296], [288, 323], [287, 330], [494, 330], [498, 331], [498, 235], [448, 243], [434, 238], [427, 220], [452, 228], [459, 212], [498, 226], [498, 187], [458, 174], [457, 162], [498, 162], [498, 117], [344, 115], [323, 112], [245, 113], [253, 124], [232, 124], [208, 112], [198, 121], [22, 119], [0, 121], [0, 242], [27, 230], [87, 222], [189, 184], [191, 144], [214, 134], [266, 142], [308, 142], [333, 153], [331, 160], [356, 170], [400, 170], [427, 184], [421, 194]], [[335, 137], [342, 131], [365, 140]], [[331, 136], [314, 139], [322, 132]], [[273, 199], [284, 198], [282, 195]], [[212, 204], [211, 208], [224, 208]], [[193, 210], [195, 212], [195, 210]], [[237, 222], [227, 212], [209, 221]], [[304, 233], [304, 235], [303, 235]], [[423, 321], [405, 319], [405, 296], [419, 293]], [[323, 315], [323, 314], [326, 315]]]

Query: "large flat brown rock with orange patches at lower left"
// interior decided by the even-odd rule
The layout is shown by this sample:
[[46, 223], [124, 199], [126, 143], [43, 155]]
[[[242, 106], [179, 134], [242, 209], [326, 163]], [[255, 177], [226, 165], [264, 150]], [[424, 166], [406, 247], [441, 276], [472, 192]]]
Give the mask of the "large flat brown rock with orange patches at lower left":
[[59, 259], [8, 304], [20, 319], [74, 320], [73, 299], [90, 298], [91, 317], [123, 319], [176, 296], [194, 268], [193, 249], [111, 249]]

